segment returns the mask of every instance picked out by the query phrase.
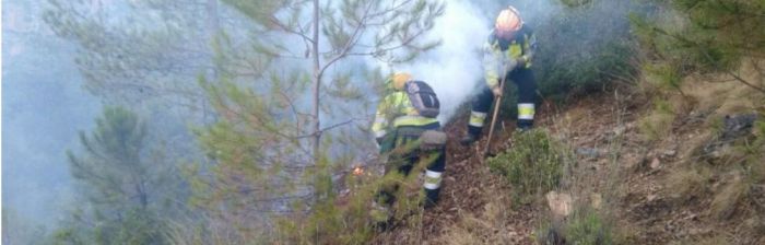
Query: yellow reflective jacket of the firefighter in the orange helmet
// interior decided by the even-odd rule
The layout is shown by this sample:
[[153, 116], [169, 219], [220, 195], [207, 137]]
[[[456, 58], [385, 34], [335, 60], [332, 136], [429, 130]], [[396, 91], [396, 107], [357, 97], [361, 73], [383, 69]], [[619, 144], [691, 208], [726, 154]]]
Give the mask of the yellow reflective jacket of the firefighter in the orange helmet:
[[485, 71], [486, 85], [489, 88], [498, 85], [501, 72], [505, 70], [505, 62], [509, 59], [522, 57], [526, 60], [523, 68], [530, 68], [531, 58], [533, 58], [536, 50], [537, 36], [528, 25], [523, 25], [518, 31], [515, 39], [509, 42], [497, 38], [494, 31], [492, 31], [489, 39], [483, 45], [483, 69]]

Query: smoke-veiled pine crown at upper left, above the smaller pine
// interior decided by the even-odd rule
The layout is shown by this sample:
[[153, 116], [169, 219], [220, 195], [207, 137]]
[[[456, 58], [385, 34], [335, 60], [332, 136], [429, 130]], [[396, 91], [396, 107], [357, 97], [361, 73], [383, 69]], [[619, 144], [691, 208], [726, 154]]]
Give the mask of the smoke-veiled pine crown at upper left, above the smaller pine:
[[217, 0], [48, 2], [43, 18], [79, 46], [90, 92], [113, 104], [205, 110], [195, 78], [214, 73], [210, 44], [226, 27]]

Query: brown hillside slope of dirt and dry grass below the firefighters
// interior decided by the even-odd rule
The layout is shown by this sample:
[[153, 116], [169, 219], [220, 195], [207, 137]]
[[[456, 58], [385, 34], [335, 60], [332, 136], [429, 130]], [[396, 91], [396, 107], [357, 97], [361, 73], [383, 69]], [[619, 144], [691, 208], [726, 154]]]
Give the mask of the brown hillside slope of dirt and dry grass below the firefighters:
[[[748, 198], [740, 198], [727, 194], [733, 191], [725, 187], [731, 186], [726, 185], [730, 178], [741, 178], [727, 168], [706, 167], [710, 172], [704, 178], [686, 177], [688, 166], [705, 162], [698, 149], [718, 139], [715, 121], [758, 105], [734, 100], [752, 95], [735, 83], [695, 86], [682, 98], [668, 98], [674, 109], [664, 125], [654, 120], [655, 106], [642, 93], [613, 91], [540, 109], [538, 128], [567, 145], [576, 159], [557, 191], [573, 197], [570, 209], [597, 210], [610, 224], [607, 232], [613, 243], [765, 244], [765, 220], [757, 214], [765, 209], [761, 182], [749, 185]], [[480, 158], [476, 145], [485, 141], [473, 147], [457, 143], [466, 121], [459, 118], [446, 127], [451, 142], [438, 206], [377, 235], [375, 244], [536, 244], [536, 234], [545, 233], [541, 228], [570, 219], [553, 214], [543, 195], [530, 203], [513, 203], [513, 186]], [[503, 125], [508, 127], [499, 127], [494, 151], [513, 147], [514, 121]], [[646, 125], [663, 128], [650, 137]], [[753, 137], [751, 127], [741, 130], [739, 138]], [[734, 201], [723, 206], [727, 211], [718, 211], [717, 202], [726, 195]], [[561, 236], [556, 233], [540, 237], [545, 236], [550, 243], [565, 244], [553, 241]]]

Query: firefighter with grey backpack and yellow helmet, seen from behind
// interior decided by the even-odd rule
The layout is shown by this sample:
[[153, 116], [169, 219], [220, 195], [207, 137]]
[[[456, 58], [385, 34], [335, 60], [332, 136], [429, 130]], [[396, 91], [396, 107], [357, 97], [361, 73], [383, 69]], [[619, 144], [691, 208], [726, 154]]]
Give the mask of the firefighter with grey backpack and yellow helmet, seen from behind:
[[[425, 166], [425, 207], [438, 200], [445, 168], [446, 135], [440, 131], [438, 100], [427, 83], [412, 80], [409, 73], [396, 73], [388, 80], [391, 91], [377, 106], [372, 131], [381, 154], [388, 154], [386, 174], [408, 176], [420, 161]], [[414, 144], [414, 145], [412, 145]], [[376, 203], [387, 208], [395, 201], [398, 186], [382, 187]]]

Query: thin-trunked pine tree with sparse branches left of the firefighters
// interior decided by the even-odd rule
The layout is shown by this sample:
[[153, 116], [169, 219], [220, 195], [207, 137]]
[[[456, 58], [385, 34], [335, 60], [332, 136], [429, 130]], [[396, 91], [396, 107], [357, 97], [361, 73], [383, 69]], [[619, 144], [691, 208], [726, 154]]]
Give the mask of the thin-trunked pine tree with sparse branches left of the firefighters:
[[[338, 214], [332, 177], [337, 167], [348, 164], [341, 161], [358, 160], [343, 156], [356, 155], [355, 145], [361, 145], [344, 139], [372, 141], [346, 127], [368, 126], [370, 102], [362, 91], [382, 82], [378, 72], [357, 63], [365, 58], [411, 61], [435, 47], [438, 40], [424, 34], [443, 13], [443, 4], [224, 2], [257, 27], [249, 49], [232, 48], [235, 40], [224, 35], [215, 44], [220, 80], [202, 79], [219, 120], [199, 130], [201, 145], [215, 164], [198, 170], [196, 175], [202, 177], [195, 182], [195, 203], [221, 218], [219, 223], [235, 224], [232, 229], [240, 231], [242, 241], [279, 238], [262, 234], [272, 231], [274, 217], [294, 218], [292, 224], [299, 231], [289, 236], [299, 237], [295, 241], [323, 241], [332, 231], [342, 232], [331, 228], [339, 220], [301, 223], [302, 218]], [[358, 79], [365, 80], [353, 82]], [[322, 120], [331, 122], [323, 126]]]

